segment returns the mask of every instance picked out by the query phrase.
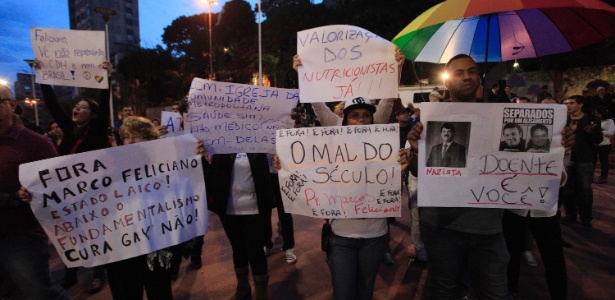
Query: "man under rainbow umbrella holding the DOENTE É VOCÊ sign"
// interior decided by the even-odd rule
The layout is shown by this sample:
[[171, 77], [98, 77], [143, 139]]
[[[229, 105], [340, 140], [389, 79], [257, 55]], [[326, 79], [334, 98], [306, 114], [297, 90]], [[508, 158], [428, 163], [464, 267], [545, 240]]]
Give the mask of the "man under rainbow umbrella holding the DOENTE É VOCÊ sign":
[[[475, 102], [479, 87], [476, 62], [465, 54], [445, 66], [445, 82], [452, 102]], [[418, 140], [423, 124], [415, 125], [408, 141], [410, 168], [417, 174]], [[562, 143], [570, 143], [565, 129]], [[418, 175], [418, 174], [417, 174]], [[420, 180], [420, 179], [419, 179]], [[462, 274], [468, 274], [479, 299], [506, 299], [509, 254], [502, 234], [502, 209], [470, 207], [421, 207], [421, 237], [429, 260], [428, 290], [435, 299], [456, 296]], [[464, 270], [467, 272], [464, 273]]]

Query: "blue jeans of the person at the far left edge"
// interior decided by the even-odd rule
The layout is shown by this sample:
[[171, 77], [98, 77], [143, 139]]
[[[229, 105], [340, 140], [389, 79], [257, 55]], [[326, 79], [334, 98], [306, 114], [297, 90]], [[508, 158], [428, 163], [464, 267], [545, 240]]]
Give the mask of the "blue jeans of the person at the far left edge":
[[46, 238], [0, 237], [0, 274], [9, 278], [26, 299], [70, 299], [51, 281]]

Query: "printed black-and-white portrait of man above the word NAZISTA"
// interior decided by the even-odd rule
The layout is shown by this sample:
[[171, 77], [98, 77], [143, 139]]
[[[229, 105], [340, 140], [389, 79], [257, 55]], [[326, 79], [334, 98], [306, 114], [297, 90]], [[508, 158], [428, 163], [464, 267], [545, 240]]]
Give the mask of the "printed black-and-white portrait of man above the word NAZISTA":
[[455, 142], [455, 125], [446, 122], [440, 127], [440, 144], [431, 147], [427, 167], [465, 168], [466, 147]]

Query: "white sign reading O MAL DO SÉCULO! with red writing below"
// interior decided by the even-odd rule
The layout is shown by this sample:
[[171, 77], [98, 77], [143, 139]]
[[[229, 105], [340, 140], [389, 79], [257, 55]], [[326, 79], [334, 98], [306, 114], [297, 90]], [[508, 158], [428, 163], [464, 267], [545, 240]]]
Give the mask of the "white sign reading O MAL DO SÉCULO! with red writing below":
[[284, 209], [315, 218], [401, 216], [399, 124], [278, 130]]

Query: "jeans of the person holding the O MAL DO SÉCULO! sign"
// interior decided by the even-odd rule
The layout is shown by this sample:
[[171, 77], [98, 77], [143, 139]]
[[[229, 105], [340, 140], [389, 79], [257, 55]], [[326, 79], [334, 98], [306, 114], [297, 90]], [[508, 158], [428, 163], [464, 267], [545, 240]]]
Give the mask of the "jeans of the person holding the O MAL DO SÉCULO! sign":
[[333, 281], [333, 299], [372, 299], [378, 268], [384, 258], [385, 235], [355, 239], [331, 236], [327, 253]]

